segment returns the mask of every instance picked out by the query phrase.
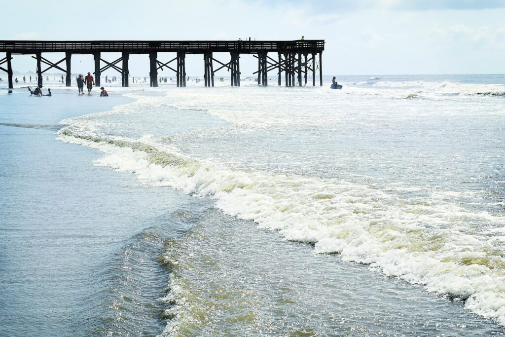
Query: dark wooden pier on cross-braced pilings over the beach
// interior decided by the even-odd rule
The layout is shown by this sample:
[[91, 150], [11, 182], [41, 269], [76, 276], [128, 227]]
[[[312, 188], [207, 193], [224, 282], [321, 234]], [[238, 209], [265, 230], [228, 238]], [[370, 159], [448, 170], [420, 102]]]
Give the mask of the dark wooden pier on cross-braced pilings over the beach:
[[[187, 54], [204, 56], [205, 86], [214, 86], [214, 74], [226, 68], [230, 73], [231, 85], [240, 86], [240, 56], [251, 54], [258, 59], [258, 85], [268, 85], [268, 72], [277, 71], [278, 85], [281, 85], [282, 72], [285, 73], [285, 85], [306, 85], [307, 74], [312, 73], [312, 85], [316, 85], [316, 73], [319, 70], [319, 82], [323, 85], [322, 53], [324, 40], [294, 41], [24, 41], [0, 40], [0, 53], [6, 53], [0, 59], [0, 70], [7, 72], [9, 88], [13, 87], [12, 59], [15, 55], [32, 55], [36, 60], [38, 84], [42, 84], [42, 74], [55, 68], [66, 73], [66, 85], [71, 86], [71, 58], [74, 54], [89, 54], [94, 60], [94, 78], [100, 86], [100, 74], [108, 69], [121, 73], [122, 86], [128, 86], [128, 59], [131, 54], [149, 56], [150, 86], [158, 86], [158, 70], [176, 73], [177, 86], [186, 86]], [[65, 53], [65, 58], [53, 62], [42, 54]], [[121, 57], [112, 62], [103, 58], [104, 53], [121, 53]], [[175, 58], [164, 63], [158, 59], [159, 53], [175, 53]], [[229, 62], [214, 58], [214, 53], [226, 53]], [[276, 53], [277, 59], [268, 55]], [[317, 57], [319, 54], [319, 58]], [[271, 54], [272, 55], [272, 54]], [[0, 56], [1, 57], [1, 56]], [[172, 62], [175, 65], [170, 66]], [[7, 63], [7, 69], [2, 67]], [[65, 64], [63, 64], [65, 63]], [[42, 64], [48, 66], [42, 69]], [[65, 68], [63, 68], [65, 66]], [[216, 67], [215, 67], [216, 66]], [[296, 75], [296, 76], [295, 76]], [[295, 81], [296, 78], [296, 81]]]

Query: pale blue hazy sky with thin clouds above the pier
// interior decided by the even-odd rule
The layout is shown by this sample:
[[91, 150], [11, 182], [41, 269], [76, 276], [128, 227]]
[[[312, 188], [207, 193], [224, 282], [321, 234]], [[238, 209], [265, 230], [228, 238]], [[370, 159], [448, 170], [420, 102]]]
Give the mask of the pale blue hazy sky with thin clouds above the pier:
[[[304, 35], [326, 41], [325, 75], [505, 73], [505, 0], [0, 0], [0, 8], [0, 39], [6, 40], [294, 40]], [[118, 57], [103, 55], [108, 61]], [[173, 56], [159, 58], [167, 62]], [[215, 58], [229, 61], [226, 54]], [[13, 67], [34, 71], [35, 60], [16, 56]], [[252, 56], [241, 57], [242, 74], [257, 67]], [[72, 57], [73, 72], [92, 69], [92, 56]], [[186, 73], [203, 72], [203, 56], [187, 56]], [[131, 56], [130, 75], [147, 74], [148, 57]], [[175, 77], [167, 71], [159, 76]]]

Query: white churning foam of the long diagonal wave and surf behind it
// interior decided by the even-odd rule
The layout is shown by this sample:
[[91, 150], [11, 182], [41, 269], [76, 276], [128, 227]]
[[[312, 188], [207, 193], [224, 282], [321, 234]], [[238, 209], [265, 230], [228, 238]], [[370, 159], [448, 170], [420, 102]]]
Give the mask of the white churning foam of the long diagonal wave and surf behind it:
[[[381, 86], [387, 84], [384, 82]], [[216, 133], [224, 136], [234, 134], [227, 130], [235, 132], [237, 128], [242, 132], [239, 134], [283, 128], [308, 130], [308, 133], [329, 128], [338, 132], [357, 123], [352, 113], [361, 113], [374, 105], [389, 104], [386, 108], [377, 107], [376, 114], [367, 116], [370, 127], [376, 123], [380, 128], [383, 119], [401, 124], [414, 115], [427, 122], [439, 115], [450, 118], [457, 114], [467, 119], [473, 119], [476, 113], [499, 116], [503, 111], [500, 98], [482, 104], [475, 100], [486, 98], [471, 97], [474, 101], [467, 101], [461, 97], [455, 101], [448, 97], [442, 104], [435, 103], [435, 107], [446, 111], [402, 105], [401, 108], [412, 110], [406, 113], [391, 110], [395, 103], [359, 95], [348, 100], [342, 110], [335, 96], [325, 88], [251, 87], [240, 92], [235, 89], [223, 88], [219, 93], [203, 88], [174, 89], [166, 97], [133, 93], [135, 103], [116, 107], [108, 113], [63, 121], [69, 126], [59, 131], [59, 138], [104, 152], [106, 156], [95, 161], [95, 165], [135, 173], [140, 182], [148, 185], [171, 186], [186, 194], [212, 198], [225, 214], [252, 220], [261, 228], [278, 231], [288, 240], [312, 244], [314, 253], [339, 253], [343, 260], [368, 264], [386, 275], [422, 284], [430, 292], [461, 299], [472, 312], [505, 324], [504, 250], [500, 237], [493, 235], [505, 224], [502, 209], [461, 203], [472, 198], [489, 204], [486, 186], [481, 186], [484, 190], [477, 188], [478, 183], [459, 188], [454, 182], [457, 180], [443, 185], [445, 189], [412, 181], [380, 183], [381, 179], [377, 180], [373, 171], [366, 175], [355, 172], [353, 179], [342, 179], [304, 175], [304, 167], [287, 168], [283, 174], [275, 173], [268, 165], [257, 170], [247, 162], [247, 156], [235, 158], [235, 162], [230, 158], [216, 158], [204, 142], [207, 138], [201, 138], [201, 134], [213, 130], [204, 131], [205, 127], [201, 126], [181, 132], [171, 129], [170, 123], [161, 117], [150, 122], [139, 122], [135, 117], [148, 112], [155, 112], [155, 118], [156, 114], [181, 114], [178, 118], [183, 118], [182, 113], [189, 116], [209, 113], [229, 123], [214, 125], [218, 126]], [[308, 104], [308, 97], [317, 104]], [[468, 102], [472, 105], [470, 108]], [[383, 111], [389, 115], [381, 115]], [[129, 118], [138, 123], [133, 127], [127, 122]], [[159, 123], [164, 127], [157, 127]], [[358, 130], [357, 135], [366, 127]], [[198, 149], [184, 153], [181, 139], [194, 142]], [[392, 142], [401, 145], [401, 139]], [[226, 143], [219, 146], [219, 151], [230, 151]], [[345, 151], [345, 143], [342, 149]], [[279, 153], [293, 151], [277, 150]], [[426, 149], [431, 150], [436, 151]], [[455, 156], [462, 155], [458, 149], [451, 151]], [[249, 158], [258, 159], [253, 153]], [[362, 159], [355, 160], [359, 165]], [[421, 177], [431, 178], [419, 172]], [[440, 172], [431, 174], [436, 176]], [[447, 186], [453, 189], [446, 189]]]

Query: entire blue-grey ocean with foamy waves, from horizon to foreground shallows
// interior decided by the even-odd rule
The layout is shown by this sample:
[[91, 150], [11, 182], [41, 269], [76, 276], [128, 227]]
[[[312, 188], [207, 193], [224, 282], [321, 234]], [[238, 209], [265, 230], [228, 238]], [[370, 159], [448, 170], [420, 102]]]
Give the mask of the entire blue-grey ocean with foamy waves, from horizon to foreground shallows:
[[195, 78], [0, 83], [0, 335], [505, 335], [505, 75]]

